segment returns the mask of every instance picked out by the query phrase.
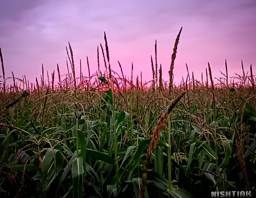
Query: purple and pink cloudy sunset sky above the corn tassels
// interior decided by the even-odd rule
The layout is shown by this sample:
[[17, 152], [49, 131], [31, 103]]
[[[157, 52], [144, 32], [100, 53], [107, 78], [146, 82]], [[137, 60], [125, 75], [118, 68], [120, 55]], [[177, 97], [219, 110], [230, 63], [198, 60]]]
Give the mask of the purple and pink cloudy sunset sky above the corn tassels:
[[[155, 57], [157, 40], [158, 68], [162, 64], [163, 79], [169, 80], [171, 56], [182, 26], [177, 57], [174, 62], [174, 82], [190, 76], [206, 78], [207, 62], [213, 77], [225, 73], [229, 77], [249, 71], [256, 72], [256, 1], [255, 0], [0, 0], [0, 47], [5, 77], [12, 71], [17, 78], [30, 82], [40, 79], [42, 63], [49, 75], [57, 63], [61, 75], [67, 73], [66, 46], [70, 42], [74, 53], [76, 76], [82, 61], [83, 76], [96, 72], [97, 46], [105, 46], [106, 32], [111, 68], [133, 81], [142, 71], [143, 81], [152, 79], [150, 55]], [[101, 70], [105, 69], [101, 48]], [[155, 61], [154, 61], [155, 63]], [[159, 72], [158, 72], [159, 73]], [[0, 75], [2, 73], [0, 72]], [[216, 80], [215, 80], [216, 81]]]

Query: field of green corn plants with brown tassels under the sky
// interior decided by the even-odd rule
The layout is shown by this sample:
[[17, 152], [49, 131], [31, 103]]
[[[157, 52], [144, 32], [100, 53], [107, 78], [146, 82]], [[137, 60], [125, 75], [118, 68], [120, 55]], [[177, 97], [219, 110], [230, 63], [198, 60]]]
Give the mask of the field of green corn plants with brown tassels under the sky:
[[[0, 197], [211, 197], [212, 191], [256, 186], [256, 91], [249, 75], [206, 79], [188, 75], [173, 84], [151, 58], [153, 79], [143, 83], [114, 72], [108, 43], [98, 47], [98, 71], [68, 74], [57, 65], [41, 80], [5, 77], [1, 53]], [[4, 49], [2, 49], [4, 50]], [[105, 67], [99, 68], [102, 51]], [[106, 55], [106, 58], [105, 58]], [[187, 66], [187, 69], [188, 66]], [[133, 66], [132, 66], [133, 70]], [[7, 83], [7, 80], [12, 83]], [[56, 83], [57, 82], [57, 83]], [[232, 197], [232, 194], [231, 194]]]

